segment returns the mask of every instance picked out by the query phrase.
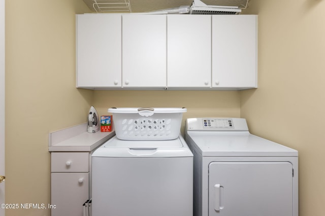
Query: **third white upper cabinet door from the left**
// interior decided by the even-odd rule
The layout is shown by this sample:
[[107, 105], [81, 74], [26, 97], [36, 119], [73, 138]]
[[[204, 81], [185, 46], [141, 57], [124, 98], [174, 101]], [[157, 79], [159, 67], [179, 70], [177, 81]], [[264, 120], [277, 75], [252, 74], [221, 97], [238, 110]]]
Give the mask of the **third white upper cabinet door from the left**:
[[168, 15], [168, 87], [211, 87], [211, 16]]

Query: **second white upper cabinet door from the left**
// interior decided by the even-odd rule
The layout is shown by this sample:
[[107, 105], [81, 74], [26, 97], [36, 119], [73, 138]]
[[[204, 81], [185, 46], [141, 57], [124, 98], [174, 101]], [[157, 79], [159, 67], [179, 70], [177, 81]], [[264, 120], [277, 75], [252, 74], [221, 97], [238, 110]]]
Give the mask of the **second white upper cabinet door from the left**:
[[124, 87], [166, 87], [166, 15], [123, 15]]

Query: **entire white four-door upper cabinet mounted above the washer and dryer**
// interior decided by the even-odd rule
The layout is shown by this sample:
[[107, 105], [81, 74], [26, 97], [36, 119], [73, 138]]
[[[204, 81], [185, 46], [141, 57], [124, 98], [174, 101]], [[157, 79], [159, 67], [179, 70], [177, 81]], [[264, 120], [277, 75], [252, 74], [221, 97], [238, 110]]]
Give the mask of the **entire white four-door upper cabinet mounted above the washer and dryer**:
[[77, 15], [77, 87], [257, 87], [257, 15]]

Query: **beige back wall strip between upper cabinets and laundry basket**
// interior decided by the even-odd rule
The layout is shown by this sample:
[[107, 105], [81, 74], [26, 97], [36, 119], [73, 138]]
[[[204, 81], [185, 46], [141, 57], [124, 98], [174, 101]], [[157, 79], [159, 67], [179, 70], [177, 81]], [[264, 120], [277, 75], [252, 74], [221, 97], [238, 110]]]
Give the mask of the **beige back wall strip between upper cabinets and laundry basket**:
[[186, 107], [187, 118], [240, 117], [239, 91], [94, 91], [93, 104], [99, 115], [109, 107]]

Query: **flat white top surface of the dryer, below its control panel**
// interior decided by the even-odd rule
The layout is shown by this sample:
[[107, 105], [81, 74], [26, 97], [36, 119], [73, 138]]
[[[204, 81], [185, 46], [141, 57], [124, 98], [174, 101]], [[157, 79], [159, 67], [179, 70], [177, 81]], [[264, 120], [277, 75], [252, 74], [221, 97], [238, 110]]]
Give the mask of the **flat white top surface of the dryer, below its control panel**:
[[186, 131], [186, 141], [202, 156], [297, 157], [298, 151], [248, 131]]

